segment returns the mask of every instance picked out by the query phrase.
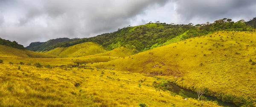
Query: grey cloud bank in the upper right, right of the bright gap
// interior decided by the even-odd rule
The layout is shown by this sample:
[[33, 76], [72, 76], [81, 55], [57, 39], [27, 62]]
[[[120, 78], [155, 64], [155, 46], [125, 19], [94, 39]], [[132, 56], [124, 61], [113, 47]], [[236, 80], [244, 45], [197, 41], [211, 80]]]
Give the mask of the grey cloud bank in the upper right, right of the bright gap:
[[256, 17], [256, 0], [172, 0], [181, 22], [214, 21], [224, 17], [249, 20]]

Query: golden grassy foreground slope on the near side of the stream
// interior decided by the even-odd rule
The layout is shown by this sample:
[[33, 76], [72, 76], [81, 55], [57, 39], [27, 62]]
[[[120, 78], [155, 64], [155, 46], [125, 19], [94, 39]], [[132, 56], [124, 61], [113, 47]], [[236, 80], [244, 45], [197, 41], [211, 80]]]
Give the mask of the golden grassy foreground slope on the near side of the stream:
[[[142, 74], [89, 67], [68, 68], [0, 64], [1, 107], [198, 107], [151, 85], [158, 80]], [[140, 80], [144, 80], [140, 82]], [[141, 86], [139, 86], [139, 84]], [[217, 107], [205, 102], [204, 107]]]

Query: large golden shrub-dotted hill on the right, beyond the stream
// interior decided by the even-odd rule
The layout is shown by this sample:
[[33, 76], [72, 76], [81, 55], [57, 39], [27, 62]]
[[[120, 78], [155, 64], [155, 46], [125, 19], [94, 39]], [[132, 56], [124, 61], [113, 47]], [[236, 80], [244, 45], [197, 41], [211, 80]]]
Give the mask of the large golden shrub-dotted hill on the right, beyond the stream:
[[164, 77], [224, 102], [253, 107], [255, 48], [255, 32], [222, 31], [90, 66]]

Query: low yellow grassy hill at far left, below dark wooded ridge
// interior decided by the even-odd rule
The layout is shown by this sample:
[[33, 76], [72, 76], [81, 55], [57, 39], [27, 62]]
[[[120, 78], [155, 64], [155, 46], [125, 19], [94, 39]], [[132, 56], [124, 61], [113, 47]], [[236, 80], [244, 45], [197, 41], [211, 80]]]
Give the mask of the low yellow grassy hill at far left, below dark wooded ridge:
[[53, 55], [33, 52], [26, 49], [17, 49], [0, 45], [0, 57], [24, 57], [24, 58], [55, 58]]

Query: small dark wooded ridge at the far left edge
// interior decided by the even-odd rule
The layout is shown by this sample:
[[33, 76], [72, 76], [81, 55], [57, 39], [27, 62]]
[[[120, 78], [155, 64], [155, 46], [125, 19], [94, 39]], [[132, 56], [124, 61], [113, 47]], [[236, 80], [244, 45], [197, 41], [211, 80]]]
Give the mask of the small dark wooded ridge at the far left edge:
[[0, 38], [0, 45], [5, 45], [5, 46], [8, 46], [8, 47], [14, 47], [14, 48], [17, 48], [17, 49], [25, 49], [23, 47], [23, 45], [18, 44], [16, 41], [9, 41], [9, 40], [5, 40], [5, 39], [2, 39], [2, 38]]

